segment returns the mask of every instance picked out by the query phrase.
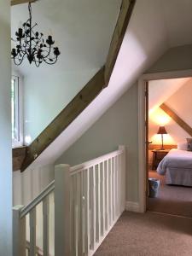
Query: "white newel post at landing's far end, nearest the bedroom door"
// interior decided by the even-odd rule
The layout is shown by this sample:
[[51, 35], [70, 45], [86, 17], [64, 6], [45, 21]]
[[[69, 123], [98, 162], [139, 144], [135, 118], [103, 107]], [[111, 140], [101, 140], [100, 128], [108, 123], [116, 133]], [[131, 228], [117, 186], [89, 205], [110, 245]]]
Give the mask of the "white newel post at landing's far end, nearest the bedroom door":
[[123, 151], [121, 154], [121, 210], [125, 210], [125, 203], [126, 203], [126, 147], [124, 145], [119, 145], [119, 150]]

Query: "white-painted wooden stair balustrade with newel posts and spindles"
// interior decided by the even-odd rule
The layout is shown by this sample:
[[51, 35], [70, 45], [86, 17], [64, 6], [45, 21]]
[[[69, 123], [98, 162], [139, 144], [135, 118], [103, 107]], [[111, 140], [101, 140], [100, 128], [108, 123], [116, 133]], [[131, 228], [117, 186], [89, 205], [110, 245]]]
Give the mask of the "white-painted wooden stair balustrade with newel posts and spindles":
[[[124, 210], [125, 146], [79, 166], [55, 166], [55, 180], [26, 207], [13, 208], [14, 255], [91, 256]], [[39, 216], [43, 216], [42, 248], [36, 243]], [[50, 233], [55, 234], [54, 241], [49, 240]]]

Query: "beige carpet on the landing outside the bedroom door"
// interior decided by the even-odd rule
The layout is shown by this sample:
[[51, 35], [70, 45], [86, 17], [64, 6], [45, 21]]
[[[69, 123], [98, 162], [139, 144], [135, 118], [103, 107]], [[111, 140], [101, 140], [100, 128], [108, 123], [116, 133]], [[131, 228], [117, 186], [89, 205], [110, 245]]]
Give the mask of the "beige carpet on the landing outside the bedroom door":
[[95, 256], [190, 256], [192, 219], [124, 212]]

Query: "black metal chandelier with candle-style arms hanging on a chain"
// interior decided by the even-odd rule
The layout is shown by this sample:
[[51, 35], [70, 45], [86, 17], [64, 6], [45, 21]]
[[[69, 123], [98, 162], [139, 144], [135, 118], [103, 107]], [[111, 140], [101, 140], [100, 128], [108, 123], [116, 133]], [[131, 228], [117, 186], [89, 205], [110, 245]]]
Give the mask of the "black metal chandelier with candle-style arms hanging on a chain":
[[38, 24], [32, 26], [32, 6], [31, 3], [28, 5], [29, 19], [22, 25], [22, 28], [15, 32], [17, 42], [15, 48], [12, 49], [11, 55], [15, 62], [15, 65], [20, 65], [22, 61], [27, 58], [29, 63], [35, 63], [37, 67], [44, 61], [47, 64], [55, 64], [60, 50], [58, 47], [53, 47], [55, 41], [51, 36], [48, 36], [46, 42], [44, 42], [44, 34], [34, 32], [33, 29]]

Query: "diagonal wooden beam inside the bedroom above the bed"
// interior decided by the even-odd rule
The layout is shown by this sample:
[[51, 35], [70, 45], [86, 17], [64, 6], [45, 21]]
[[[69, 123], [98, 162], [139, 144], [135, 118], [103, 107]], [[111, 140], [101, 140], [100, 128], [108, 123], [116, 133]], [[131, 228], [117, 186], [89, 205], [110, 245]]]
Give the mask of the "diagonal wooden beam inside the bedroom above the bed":
[[160, 108], [165, 111], [184, 131], [186, 131], [192, 137], [192, 128], [181, 119], [177, 113], [169, 108], [165, 103], [160, 105]]

